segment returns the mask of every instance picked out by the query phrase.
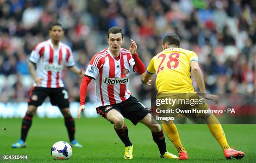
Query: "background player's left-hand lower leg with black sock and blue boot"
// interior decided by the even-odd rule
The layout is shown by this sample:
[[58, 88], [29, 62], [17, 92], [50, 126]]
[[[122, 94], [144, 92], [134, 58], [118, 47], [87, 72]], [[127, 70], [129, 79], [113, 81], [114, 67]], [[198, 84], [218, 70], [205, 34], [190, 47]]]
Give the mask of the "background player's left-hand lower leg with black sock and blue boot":
[[32, 125], [33, 116], [34, 116], [34, 114], [36, 114], [36, 109], [37, 109], [36, 106], [28, 105], [28, 110], [22, 120], [21, 137], [17, 143], [14, 143], [12, 145], [13, 148], [25, 148], [26, 147], [25, 141], [26, 141], [26, 138], [28, 135], [28, 130]]

